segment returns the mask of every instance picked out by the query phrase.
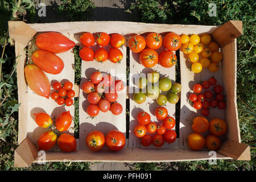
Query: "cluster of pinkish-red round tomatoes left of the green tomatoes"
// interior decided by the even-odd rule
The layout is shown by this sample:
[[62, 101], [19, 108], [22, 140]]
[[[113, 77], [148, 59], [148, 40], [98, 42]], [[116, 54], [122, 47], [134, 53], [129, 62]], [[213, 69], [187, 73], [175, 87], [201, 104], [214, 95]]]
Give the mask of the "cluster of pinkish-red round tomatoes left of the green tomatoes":
[[118, 93], [125, 88], [121, 80], [115, 80], [109, 75], [102, 75], [96, 71], [92, 73], [89, 81], [82, 84], [82, 91], [87, 95], [90, 105], [86, 108], [86, 112], [90, 117], [96, 117], [100, 111], [106, 113], [111, 111], [114, 115], [119, 115], [123, 111], [123, 107], [117, 101]]

